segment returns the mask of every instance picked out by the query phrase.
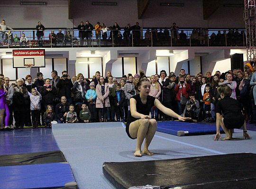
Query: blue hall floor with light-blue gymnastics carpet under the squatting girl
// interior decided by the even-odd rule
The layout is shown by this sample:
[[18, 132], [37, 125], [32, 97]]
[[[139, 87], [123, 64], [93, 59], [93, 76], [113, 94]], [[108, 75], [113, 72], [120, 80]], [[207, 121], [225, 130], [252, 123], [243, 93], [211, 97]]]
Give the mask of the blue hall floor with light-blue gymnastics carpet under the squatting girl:
[[[177, 137], [156, 132], [153, 156], [134, 157], [136, 140], [128, 138], [120, 122], [56, 124], [52, 129], [16, 129], [0, 132], [0, 155], [61, 150], [70, 163], [79, 189], [115, 189], [104, 177], [104, 162], [132, 162], [183, 157], [255, 153], [256, 126], [248, 126], [251, 140], [235, 129], [231, 141], [213, 141], [215, 135]], [[224, 136], [222, 134], [222, 136]], [[134, 170], [136, 171], [136, 170]], [[1, 187], [0, 187], [1, 188]]]

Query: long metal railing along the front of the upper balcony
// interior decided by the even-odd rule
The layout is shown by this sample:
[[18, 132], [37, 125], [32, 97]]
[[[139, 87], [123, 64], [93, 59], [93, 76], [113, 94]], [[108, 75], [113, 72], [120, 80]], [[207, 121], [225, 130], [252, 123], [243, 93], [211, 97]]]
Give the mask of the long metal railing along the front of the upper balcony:
[[[55, 47], [135, 47], [135, 46], [246, 46], [245, 30], [202, 30], [186, 29], [173, 31], [170, 29], [152, 30], [108, 30], [104, 34], [96, 35], [95, 30], [84, 31], [84, 39], [80, 38], [79, 30], [62, 30], [64, 36], [70, 32], [69, 39], [64, 41], [50, 37], [51, 31], [57, 34], [58, 30], [44, 30], [44, 48]], [[120, 32], [120, 33], [119, 33]], [[0, 48], [37, 48], [37, 30], [11, 30], [0, 32]], [[15, 34], [20, 39], [22, 34], [27, 37], [27, 43], [14, 41]], [[120, 35], [121, 34], [121, 35]]]

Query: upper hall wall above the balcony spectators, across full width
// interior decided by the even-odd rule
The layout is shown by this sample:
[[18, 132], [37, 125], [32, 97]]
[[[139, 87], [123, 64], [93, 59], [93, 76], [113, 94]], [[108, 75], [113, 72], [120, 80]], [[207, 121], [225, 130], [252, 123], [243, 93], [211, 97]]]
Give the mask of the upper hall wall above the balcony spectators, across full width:
[[[222, 5], [208, 20], [203, 20], [202, 0], [176, 0], [184, 7], [163, 7], [160, 0], [151, 0], [143, 19], [138, 19], [137, 0], [108, 0], [118, 2], [118, 6], [92, 6], [95, 0], [76, 0], [73, 2], [73, 23], [68, 19], [67, 0], [43, 0], [46, 6], [20, 6], [19, 0], [1, 0], [1, 18], [11, 27], [35, 28], [38, 21], [45, 27], [77, 27], [81, 21], [89, 20], [93, 26], [104, 22], [113, 26], [117, 22], [124, 27], [127, 23], [142, 27], [170, 27], [176, 22], [180, 27], [245, 27], [244, 8], [226, 8]], [[106, 1], [106, 0], [97, 0]], [[226, 0], [227, 1], [227, 0]], [[232, 3], [243, 3], [232, 0]], [[10, 14], [11, 13], [11, 14]]]

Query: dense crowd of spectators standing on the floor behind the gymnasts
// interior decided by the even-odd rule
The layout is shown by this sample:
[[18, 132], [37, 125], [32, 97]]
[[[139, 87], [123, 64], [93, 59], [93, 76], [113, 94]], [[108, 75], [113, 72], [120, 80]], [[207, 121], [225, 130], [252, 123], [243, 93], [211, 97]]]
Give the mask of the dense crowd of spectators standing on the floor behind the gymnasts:
[[[24, 126], [51, 128], [54, 123], [127, 121], [129, 99], [138, 94], [137, 84], [144, 72], [124, 75], [119, 81], [107, 72], [107, 77], [97, 71], [91, 81], [79, 73], [70, 77], [67, 71], [52, 78], [44, 78], [38, 72], [37, 78], [30, 75], [18, 78], [10, 84], [9, 77], [0, 74], [0, 129], [20, 129]], [[159, 99], [165, 107], [185, 117], [190, 122], [215, 122], [215, 106], [221, 100], [218, 87], [228, 86], [231, 98], [243, 106], [246, 121], [256, 120], [256, 72], [247, 63], [244, 71], [228, 70], [196, 74], [191, 77], [181, 69], [174, 72], [161, 70], [159, 75], [149, 77], [149, 95]], [[226, 104], [227, 106], [229, 104]], [[153, 107], [151, 117], [157, 121], [174, 120]], [[15, 124], [14, 124], [15, 120]]]

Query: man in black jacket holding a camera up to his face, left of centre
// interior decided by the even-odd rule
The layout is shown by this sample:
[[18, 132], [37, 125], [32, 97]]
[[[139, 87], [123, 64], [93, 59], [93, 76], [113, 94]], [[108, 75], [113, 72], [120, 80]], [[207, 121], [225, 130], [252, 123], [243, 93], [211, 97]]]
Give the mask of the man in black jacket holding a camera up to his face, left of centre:
[[56, 86], [59, 88], [59, 97], [61, 98], [62, 96], [65, 96], [67, 98], [67, 103], [72, 104], [71, 88], [73, 87], [73, 83], [67, 71], [62, 72], [62, 77]]

